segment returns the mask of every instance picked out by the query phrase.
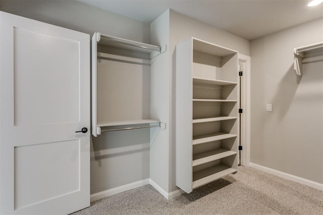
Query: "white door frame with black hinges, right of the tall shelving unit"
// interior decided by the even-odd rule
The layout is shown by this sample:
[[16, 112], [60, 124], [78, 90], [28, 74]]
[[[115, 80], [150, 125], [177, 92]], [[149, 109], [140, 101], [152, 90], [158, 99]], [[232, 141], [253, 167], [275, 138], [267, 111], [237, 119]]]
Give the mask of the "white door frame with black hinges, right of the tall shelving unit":
[[243, 71], [241, 77], [240, 107], [243, 110], [240, 118], [240, 142], [242, 151], [240, 165], [250, 166], [250, 65], [251, 57], [238, 53], [239, 71]]

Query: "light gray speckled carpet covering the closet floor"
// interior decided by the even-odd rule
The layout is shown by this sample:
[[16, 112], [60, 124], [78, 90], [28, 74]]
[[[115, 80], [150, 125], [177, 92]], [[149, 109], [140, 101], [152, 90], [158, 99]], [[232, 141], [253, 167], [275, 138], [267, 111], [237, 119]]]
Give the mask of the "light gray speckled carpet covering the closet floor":
[[323, 191], [249, 167], [175, 199], [145, 185], [91, 202], [85, 214], [323, 214]]

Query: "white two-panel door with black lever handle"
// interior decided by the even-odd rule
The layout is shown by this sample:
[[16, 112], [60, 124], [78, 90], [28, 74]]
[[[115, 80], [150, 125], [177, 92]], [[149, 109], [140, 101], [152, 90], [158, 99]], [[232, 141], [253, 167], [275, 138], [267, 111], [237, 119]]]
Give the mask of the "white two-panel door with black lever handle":
[[0, 12], [0, 214], [90, 204], [89, 35]]

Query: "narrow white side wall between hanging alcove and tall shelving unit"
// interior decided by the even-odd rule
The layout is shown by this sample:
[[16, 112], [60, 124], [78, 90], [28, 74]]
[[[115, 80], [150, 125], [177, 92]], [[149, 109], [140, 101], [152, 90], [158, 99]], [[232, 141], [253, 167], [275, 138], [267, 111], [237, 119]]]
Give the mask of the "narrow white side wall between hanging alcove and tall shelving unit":
[[152, 129], [150, 146], [150, 179], [161, 189], [169, 190], [170, 148], [170, 50], [169, 11], [150, 24], [151, 43], [167, 51], [151, 60], [150, 65], [150, 117], [166, 123], [166, 129]]

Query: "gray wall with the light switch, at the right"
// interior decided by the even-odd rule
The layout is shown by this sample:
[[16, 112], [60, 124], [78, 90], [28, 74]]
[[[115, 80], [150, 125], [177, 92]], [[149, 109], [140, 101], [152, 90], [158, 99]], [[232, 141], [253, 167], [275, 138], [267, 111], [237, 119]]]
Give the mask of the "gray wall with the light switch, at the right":
[[[323, 41], [315, 20], [251, 41], [251, 163], [323, 183], [323, 61], [293, 69], [293, 48]], [[266, 112], [266, 104], [273, 112]]]

